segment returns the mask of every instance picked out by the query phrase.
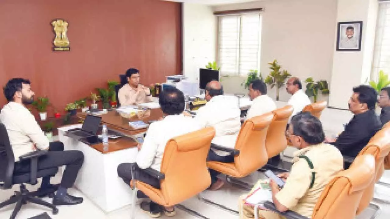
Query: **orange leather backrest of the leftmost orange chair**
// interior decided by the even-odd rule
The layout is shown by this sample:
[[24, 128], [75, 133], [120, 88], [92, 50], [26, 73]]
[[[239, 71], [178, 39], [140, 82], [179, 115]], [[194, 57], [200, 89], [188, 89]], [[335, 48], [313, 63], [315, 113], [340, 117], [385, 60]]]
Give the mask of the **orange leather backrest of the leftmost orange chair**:
[[167, 206], [173, 206], [209, 187], [207, 154], [215, 129], [207, 127], [168, 141], [161, 162], [161, 193]]

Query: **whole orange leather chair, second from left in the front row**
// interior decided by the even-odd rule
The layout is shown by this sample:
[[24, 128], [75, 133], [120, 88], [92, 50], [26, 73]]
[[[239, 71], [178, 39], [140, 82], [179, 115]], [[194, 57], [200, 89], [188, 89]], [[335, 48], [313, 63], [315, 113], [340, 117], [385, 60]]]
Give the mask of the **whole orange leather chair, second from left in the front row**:
[[[207, 161], [207, 166], [231, 177], [242, 178], [264, 166], [268, 161], [265, 139], [273, 113], [266, 113], [244, 122], [236, 140], [233, 163]], [[231, 152], [230, 148], [215, 147]]]

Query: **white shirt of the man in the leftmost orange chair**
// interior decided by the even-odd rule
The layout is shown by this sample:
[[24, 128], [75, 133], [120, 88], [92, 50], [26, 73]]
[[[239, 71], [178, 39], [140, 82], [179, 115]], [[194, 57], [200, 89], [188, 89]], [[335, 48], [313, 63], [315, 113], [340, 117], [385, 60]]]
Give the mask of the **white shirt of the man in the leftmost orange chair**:
[[161, 161], [167, 142], [174, 137], [201, 129], [195, 119], [184, 115], [168, 115], [153, 122], [146, 132], [144, 143], [137, 155], [137, 165], [161, 171]]

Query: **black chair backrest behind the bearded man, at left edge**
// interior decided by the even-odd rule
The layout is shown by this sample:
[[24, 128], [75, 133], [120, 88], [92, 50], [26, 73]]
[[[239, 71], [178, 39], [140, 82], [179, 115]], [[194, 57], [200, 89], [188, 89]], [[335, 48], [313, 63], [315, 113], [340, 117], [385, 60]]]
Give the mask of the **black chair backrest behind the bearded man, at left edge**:
[[1, 187], [5, 189], [12, 187], [14, 163], [14, 152], [12, 152], [7, 129], [5, 129], [4, 124], [0, 123], [0, 182], [4, 182]]

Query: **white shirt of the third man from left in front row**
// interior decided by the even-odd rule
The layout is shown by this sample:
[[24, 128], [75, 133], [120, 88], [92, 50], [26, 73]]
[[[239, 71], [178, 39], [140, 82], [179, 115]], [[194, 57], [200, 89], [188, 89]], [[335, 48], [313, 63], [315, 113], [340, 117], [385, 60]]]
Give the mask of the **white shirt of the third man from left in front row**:
[[276, 104], [271, 97], [266, 94], [256, 97], [252, 101], [252, 106], [249, 108], [246, 119], [250, 119], [264, 113], [269, 113], [276, 109]]

